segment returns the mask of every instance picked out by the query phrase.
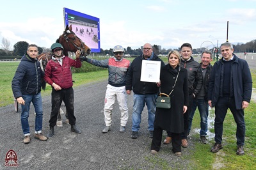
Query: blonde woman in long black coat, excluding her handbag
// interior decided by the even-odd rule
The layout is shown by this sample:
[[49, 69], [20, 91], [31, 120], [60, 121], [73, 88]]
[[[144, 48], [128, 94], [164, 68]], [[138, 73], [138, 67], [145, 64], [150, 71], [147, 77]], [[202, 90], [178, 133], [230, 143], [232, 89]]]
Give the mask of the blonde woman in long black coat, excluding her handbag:
[[187, 111], [189, 105], [188, 73], [186, 69], [179, 65], [180, 54], [177, 50], [169, 52], [168, 62], [167, 65], [161, 67], [160, 90], [161, 93], [169, 95], [173, 89], [170, 95], [171, 108], [156, 108], [151, 153], [156, 154], [160, 150], [163, 130], [167, 130], [172, 132], [172, 151], [175, 155], [180, 156], [181, 133], [184, 131], [183, 114]]

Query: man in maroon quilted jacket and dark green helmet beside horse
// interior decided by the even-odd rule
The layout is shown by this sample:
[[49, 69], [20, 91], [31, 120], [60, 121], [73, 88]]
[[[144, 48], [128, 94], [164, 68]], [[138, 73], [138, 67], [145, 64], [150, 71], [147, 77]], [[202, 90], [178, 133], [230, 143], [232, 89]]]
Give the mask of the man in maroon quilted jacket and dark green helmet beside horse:
[[81, 134], [81, 130], [76, 127], [76, 117], [74, 116], [74, 90], [72, 88], [72, 72], [70, 70], [71, 66], [81, 67], [81, 61], [78, 59], [80, 51], [76, 51], [76, 59], [74, 60], [63, 55], [63, 47], [60, 43], [53, 43], [51, 50], [54, 56], [47, 63], [44, 75], [44, 80], [52, 86], [52, 111], [49, 120], [50, 130], [48, 137], [54, 135], [54, 126], [56, 125], [62, 101], [66, 105], [71, 131]]

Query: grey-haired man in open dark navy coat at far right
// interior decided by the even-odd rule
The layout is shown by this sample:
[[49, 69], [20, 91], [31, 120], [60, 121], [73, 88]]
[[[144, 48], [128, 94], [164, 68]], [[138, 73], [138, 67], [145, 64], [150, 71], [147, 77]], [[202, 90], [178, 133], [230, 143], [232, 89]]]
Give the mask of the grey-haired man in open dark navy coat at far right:
[[244, 109], [252, 96], [252, 75], [248, 63], [233, 54], [231, 43], [222, 43], [220, 49], [222, 58], [212, 68], [208, 89], [208, 104], [215, 107], [215, 144], [211, 152], [218, 152], [222, 148], [223, 121], [229, 108], [237, 125], [236, 154], [244, 155]]

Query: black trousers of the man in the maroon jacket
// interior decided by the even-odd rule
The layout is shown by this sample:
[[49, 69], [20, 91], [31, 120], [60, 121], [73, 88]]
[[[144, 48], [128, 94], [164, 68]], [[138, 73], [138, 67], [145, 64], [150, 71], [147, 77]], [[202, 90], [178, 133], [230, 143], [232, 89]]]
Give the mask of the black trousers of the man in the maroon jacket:
[[76, 117], [74, 116], [74, 90], [73, 88], [61, 89], [56, 91], [52, 88], [52, 112], [49, 120], [50, 127], [56, 125], [58, 112], [60, 110], [61, 102], [64, 102], [68, 112], [68, 121], [70, 125], [76, 124]]

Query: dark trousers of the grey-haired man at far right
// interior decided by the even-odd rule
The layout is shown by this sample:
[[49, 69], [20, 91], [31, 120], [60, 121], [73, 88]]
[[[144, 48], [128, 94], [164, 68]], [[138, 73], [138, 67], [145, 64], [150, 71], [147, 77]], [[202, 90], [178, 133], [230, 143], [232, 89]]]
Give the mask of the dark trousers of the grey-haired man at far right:
[[214, 140], [221, 144], [223, 134], [223, 121], [227, 114], [228, 108], [233, 114], [236, 121], [236, 139], [237, 145], [244, 145], [245, 137], [245, 123], [244, 123], [244, 109], [236, 109], [235, 99], [230, 97], [219, 97], [215, 105], [215, 120], [214, 120]]

